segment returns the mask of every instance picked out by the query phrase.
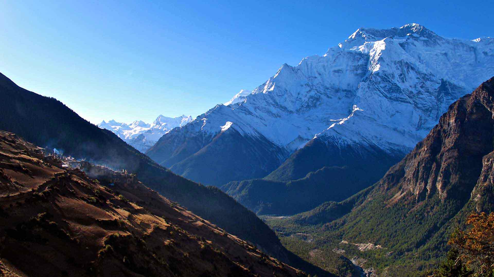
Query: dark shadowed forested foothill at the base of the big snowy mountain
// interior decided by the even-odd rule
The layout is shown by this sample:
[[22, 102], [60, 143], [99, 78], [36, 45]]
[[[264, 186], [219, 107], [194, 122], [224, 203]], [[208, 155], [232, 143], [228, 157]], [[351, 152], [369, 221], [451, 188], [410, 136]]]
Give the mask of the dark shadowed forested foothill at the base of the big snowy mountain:
[[[221, 189], [257, 214], [291, 215], [356, 194], [377, 182], [402, 157], [399, 153], [392, 156], [378, 149], [368, 150], [364, 153], [373, 154], [360, 157], [355, 152], [353, 156], [351, 151], [340, 155], [331, 149], [336, 148], [313, 139], [267, 177], [232, 181]], [[329, 166], [317, 169], [325, 164]], [[345, 164], [348, 166], [337, 166]], [[299, 177], [305, 172], [309, 173], [299, 179], [287, 178]], [[284, 181], [276, 181], [278, 179]]]

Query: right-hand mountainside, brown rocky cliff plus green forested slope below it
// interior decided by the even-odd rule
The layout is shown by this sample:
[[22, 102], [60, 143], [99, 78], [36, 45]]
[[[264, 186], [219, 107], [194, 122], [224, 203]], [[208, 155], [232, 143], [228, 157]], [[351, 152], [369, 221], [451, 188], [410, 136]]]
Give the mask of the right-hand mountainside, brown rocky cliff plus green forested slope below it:
[[[453, 103], [430, 133], [373, 186], [287, 221], [300, 224], [300, 229], [322, 226], [314, 227], [322, 238], [385, 247], [389, 255], [370, 253], [367, 266], [384, 263], [397, 269], [413, 259], [414, 270], [434, 267], [467, 215], [494, 211], [493, 158], [494, 77]], [[332, 249], [328, 240], [319, 243]], [[386, 272], [384, 276], [393, 275]]]

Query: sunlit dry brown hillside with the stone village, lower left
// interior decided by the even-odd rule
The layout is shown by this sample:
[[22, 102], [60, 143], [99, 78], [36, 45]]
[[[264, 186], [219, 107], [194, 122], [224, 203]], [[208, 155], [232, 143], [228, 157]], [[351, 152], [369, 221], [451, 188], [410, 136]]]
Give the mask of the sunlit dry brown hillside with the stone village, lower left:
[[303, 276], [139, 181], [111, 188], [0, 131], [0, 276]]

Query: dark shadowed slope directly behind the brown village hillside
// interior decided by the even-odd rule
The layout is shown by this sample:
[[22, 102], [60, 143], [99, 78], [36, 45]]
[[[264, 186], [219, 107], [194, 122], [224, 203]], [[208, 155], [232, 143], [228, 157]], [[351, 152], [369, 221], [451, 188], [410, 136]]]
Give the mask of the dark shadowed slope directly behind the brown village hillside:
[[[146, 186], [231, 234], [253, 242], [266, 253], [297, 267], [308, 266], [299, 265], [300, 259], [283, 247], [265, 223], [219, 189], [171, 173], [56, 99], [20, 88], [0, 74], [0, 103], [0, 130], [15, 133], [42, 147], [57, 148], [65, 155], [136, 173]], [[310, 268], [305, 270], [310, 271]]]

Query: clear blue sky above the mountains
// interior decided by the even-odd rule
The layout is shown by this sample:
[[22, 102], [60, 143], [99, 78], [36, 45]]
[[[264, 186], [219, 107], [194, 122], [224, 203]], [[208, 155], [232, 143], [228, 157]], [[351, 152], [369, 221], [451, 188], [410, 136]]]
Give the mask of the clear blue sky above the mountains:
[[[400, 3], [403, 2], [403, 3]], [[359, 27], [494, 36], [492, 1], [0, 1], [0, 72], [92, 123], [197, 116]]]

